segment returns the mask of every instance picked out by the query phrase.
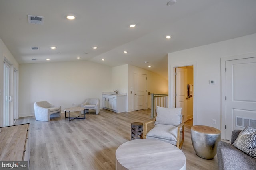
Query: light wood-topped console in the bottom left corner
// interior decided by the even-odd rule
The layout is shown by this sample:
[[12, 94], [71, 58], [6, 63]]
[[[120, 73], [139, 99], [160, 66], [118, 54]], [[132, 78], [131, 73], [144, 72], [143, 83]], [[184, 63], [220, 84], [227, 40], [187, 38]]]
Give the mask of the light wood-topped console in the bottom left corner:
[[30, 160], [30, 124], [1, 127], [0, 160]]

